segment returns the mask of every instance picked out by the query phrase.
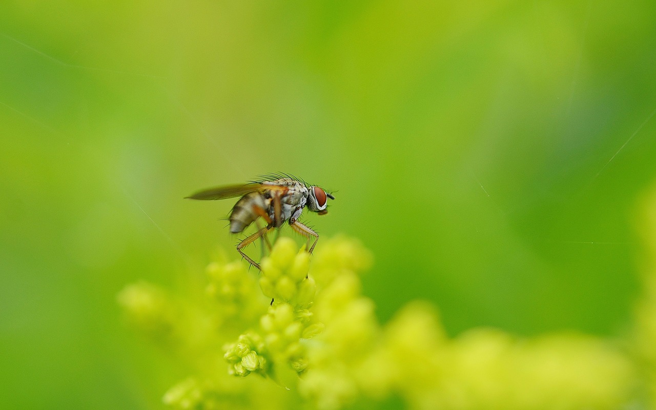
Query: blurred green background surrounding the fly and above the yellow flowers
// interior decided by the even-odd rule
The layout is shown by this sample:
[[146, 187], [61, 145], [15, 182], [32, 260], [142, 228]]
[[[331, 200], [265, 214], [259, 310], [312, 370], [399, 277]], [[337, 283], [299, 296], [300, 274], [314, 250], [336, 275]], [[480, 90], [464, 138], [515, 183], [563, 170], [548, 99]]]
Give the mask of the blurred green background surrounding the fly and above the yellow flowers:
[[383, 322], [621, 334], [655, 62], [650, 1], [3, 2], [0, 402], [160, 408], [186, 373], [115, 295], [230, 250], [234, 201], [182, 197], [266, 172], [336, 191], [306, 220]]

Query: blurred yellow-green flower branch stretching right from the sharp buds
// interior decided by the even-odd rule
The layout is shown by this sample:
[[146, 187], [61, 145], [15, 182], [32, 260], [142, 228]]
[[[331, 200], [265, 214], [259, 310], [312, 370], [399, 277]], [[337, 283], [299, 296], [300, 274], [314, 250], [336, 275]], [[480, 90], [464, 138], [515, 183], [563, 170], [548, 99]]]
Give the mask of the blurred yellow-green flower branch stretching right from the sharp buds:
[[634, 368], [612, 343], [494, 329], [449, 339], [434, 308], [420, 302], [380, 327], [358, 284], [344, 272], [316, 298], [325, 331], [308, 348], [298, 386], [318, 409], [390, 396], [426, 410], [616, 409], [628, 400]]

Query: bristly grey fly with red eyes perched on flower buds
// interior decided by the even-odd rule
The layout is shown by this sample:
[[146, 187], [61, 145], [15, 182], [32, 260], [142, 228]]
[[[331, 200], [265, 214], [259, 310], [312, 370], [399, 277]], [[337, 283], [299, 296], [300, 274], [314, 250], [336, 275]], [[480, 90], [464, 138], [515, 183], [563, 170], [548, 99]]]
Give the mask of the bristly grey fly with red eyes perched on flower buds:
[[[242, 251], [243, 248], [252, 244], [258, 238], [264, 238], [268, 248], [271, 248], [266, 234], [274, 228], [282, 227], [287, 221], [294, 231], [307, 238], [308, 246], [310, 240], [314, 238], [314, 243], [308, 250], [312, 253], [319, 241], [319, 234], [307, 225], [300, 223], [298, 217], [300, 217], [303, 208], [306, 206], [312, 212], [325, 215], [328, 213], [326, 209], [328, 198], [335, 199], [335, 196], [327, 193], [322, 188], [316, 185], [308, 185], [302, 179], [287, 174], [270, 174], [261, 178], [260, 181], [250, 181], [242, 185], [204, 189], [194, 193], [194, 195], [187, 196], [187, 198], [199, 200], [217, 200], [241, 196], [235, 206], [232, 207], [230, 217], [228, 217], [230, 233], [241, 233], [251, 223], [256, 223], [258, 230], [237, 244], [237, 252], [251, 265], [260, 270], [262, 270], [260, 265], [246, 255]], [[265, 227], [260, 227], [258, 223], [260, 217], [266, 221]]]

